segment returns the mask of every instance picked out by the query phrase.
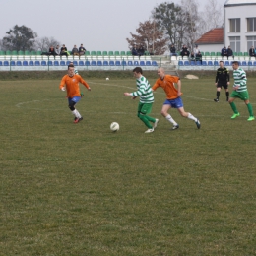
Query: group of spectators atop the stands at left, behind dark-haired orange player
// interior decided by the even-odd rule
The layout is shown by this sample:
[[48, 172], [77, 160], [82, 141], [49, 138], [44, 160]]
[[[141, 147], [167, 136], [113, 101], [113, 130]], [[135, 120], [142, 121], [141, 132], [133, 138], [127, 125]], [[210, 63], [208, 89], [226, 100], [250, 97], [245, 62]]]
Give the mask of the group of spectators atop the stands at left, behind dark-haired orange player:
[[74, 45], [71, 52], [68, 51], [65, 44], [63, 44], [61, 48], [59, 47], [59, 45], [57, 45], [55, 48], [53, 46], [50, 46], [49, 50], [42, 52], [41, 55], [69, 56], [71, 54], [73, 56], [81, 56], [81, 55], [85, 55], [85, 53], [86, 53], [86, 48], [83, 46], [83, 43], [81, 43], [79, 48], [77, 48], [77, 46]]

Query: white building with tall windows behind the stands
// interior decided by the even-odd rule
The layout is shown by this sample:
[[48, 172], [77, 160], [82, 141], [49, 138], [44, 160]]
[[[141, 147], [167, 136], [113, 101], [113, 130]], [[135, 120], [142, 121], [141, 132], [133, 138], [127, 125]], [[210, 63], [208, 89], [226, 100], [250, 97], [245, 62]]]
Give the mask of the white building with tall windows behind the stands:
[[224, 46], [234, 52], [256, 47], [256, 0], [227, 0], [224, 3]]

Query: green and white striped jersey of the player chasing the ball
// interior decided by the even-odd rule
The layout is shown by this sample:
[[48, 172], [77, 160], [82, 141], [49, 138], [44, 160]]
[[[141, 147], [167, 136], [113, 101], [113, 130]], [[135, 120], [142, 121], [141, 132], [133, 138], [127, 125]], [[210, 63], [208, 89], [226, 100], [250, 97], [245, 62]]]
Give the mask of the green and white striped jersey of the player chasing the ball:
[[140, 96], [141, 103], [153, 103], [154, 96], [149, 81], [141, 76], [136, 80], [137, 91], [132, 93], [132, 96]]

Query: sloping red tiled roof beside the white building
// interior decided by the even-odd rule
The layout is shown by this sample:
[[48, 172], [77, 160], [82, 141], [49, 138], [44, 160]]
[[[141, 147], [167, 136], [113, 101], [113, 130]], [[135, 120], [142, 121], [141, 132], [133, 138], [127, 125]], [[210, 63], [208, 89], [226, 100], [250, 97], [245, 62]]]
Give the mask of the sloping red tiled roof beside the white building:
[[224, 43], [224, 28], [215, 28], [204, 33], [195, 44], [223, 44]]

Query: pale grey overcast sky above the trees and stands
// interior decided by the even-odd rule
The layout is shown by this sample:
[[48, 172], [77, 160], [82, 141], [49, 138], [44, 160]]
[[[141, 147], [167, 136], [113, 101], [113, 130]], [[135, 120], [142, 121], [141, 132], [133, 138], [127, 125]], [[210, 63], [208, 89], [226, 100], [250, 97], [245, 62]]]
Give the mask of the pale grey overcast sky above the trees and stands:
[[[224, 6], [225, 0], [217, 0]], [[89, 50], [129, 50], [126, 38], [154, 7], [180, 0], [9, 0], [1, 1], [0, 38], [15, 25], [25, 25], [38, 37], [54, 37], [68, 50], [81, 43]], [[200, 1], [199, 9], [203, 10]], [[3, 11], [8, 10], [8, 11]]]

